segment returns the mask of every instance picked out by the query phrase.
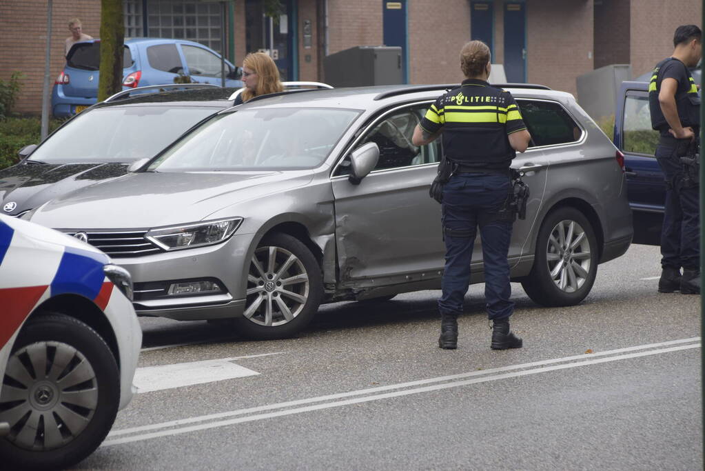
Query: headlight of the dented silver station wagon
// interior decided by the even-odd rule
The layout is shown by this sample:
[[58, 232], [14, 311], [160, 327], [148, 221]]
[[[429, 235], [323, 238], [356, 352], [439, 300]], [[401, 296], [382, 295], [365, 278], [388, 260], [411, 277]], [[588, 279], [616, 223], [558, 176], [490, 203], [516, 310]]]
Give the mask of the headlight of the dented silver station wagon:
[[164, 250], [204, 247], [225, 242], [242, 224], [243, 218], [218, 219], [181, 226], [151, 229], [145, 237]]

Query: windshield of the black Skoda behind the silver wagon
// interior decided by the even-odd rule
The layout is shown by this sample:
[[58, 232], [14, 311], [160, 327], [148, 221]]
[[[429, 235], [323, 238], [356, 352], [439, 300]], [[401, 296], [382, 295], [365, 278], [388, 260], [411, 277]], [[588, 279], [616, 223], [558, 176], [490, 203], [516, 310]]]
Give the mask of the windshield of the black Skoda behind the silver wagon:
[[112, 106], [84, 111], [32, 152], [42, 162], [131, 162], [154, 157], [214, 106]]

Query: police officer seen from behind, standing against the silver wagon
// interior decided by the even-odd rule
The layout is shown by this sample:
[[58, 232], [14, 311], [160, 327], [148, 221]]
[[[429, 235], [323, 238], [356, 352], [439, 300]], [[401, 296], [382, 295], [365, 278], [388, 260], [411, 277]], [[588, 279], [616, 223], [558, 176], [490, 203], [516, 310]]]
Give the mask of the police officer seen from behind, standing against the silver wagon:
[[443, 188], [442, 224], [446, 242], [443, 294], [439, 300], [439, 347], [458, 346], [458, 314], [470, 284], [470, 262], [477, 227], [482, 240], [485, 298], [492, 328], [491, 348], [521, 348], [509, 329], [514, 303], [509, 300], [507, 254], [513, 215], [502, 209], [512, 191], [509, 165], [515, 151], [524, 152], [531, 136], [509, 92], [487, 82], [490, 51], [471, 41], [460, 51], [465, 74], [460, 87], [441, 95], [414, 130], [414, 145], [443, 135], [445, 158], [455, 171]]

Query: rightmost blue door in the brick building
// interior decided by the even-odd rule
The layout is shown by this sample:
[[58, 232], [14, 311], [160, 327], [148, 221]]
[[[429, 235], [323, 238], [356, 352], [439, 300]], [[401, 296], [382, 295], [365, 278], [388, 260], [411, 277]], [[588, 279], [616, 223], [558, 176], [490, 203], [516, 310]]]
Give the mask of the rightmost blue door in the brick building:
[[527, 80], [526, 4], [508, 1], [504, 4], [504, 72], [510, 83]]

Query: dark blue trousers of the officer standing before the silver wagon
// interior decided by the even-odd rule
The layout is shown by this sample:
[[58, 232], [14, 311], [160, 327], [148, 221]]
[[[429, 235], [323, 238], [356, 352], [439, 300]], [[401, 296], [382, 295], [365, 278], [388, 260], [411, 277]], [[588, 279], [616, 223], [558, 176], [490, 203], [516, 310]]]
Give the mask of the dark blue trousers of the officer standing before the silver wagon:
[[[446, 268], [443, 271], [441, 315], [462, 313], [462, 302], [470, 283], [470, 262], [477, 227], [480, 227], [485, 276], [485, 299], [489, 319], [505, 319], [514, 311], [509, 300], [509, 263], [507, 254], [512, 223], [492, 221], [491, 214], [503, 206], [510, 189], [507, 175], [459, 173], [443, 188], [443, 228], [446, 233]], [[450, 234], [449, 231], [450, 229]], [[460, 234], [460, 235], [456, 235]]]

